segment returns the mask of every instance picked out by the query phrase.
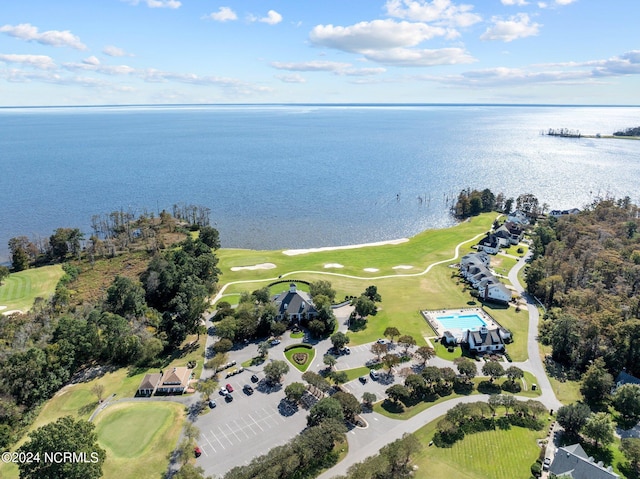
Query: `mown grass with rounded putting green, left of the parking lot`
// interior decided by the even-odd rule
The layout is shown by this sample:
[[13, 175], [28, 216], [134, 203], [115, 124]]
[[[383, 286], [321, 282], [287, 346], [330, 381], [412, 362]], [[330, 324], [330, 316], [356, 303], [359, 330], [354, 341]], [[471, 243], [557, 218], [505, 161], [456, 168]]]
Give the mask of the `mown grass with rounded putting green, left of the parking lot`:
[[118, 403], [95, 423], [98, 443], [107, 451], [104, 477], [161, 477], [184, 422], [184, 406], [169, 402]]

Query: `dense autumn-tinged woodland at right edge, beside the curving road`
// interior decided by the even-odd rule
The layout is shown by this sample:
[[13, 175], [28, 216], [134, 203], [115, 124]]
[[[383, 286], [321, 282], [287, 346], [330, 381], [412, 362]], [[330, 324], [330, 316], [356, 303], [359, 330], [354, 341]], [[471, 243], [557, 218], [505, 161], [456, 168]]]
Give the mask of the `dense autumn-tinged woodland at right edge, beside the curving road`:
[[640, 235], [629, 198], [538, 224], [527, 289], [548, 308], [540, 338], [579, 375], [602, 358], [640, 376]]

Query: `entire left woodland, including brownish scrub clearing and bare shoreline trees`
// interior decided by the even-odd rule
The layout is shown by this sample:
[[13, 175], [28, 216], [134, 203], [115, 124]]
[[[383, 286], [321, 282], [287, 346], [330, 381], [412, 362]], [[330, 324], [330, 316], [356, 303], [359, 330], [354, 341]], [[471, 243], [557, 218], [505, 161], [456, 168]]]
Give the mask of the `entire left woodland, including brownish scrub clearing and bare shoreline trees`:
[[[115, 212], [84, 247], [73, 228], [58, 228], [46, 241], [9, 242], [14, 271], [60, 262], [65, 275], [51, 300], [39, 298], [28, 313], [0, 323], [0, 447], [17, 440], [37, 406], [78, 371], [162, 367], [188, 334], [203, 332], [206, 300], [220, 273], [218, 231], [198, 224], [208, 223], [203, 211], [176, 207], [189, 222], [166, 212], [160, 218]], [[198, 239], [190, 230], [199, 230]], [[125, 275], [120, 257], [138, 264], [134, 274]], [[110, 263], [123, 274], [95, 274]], [[95, 282], [99, 294], [80, 293]]]

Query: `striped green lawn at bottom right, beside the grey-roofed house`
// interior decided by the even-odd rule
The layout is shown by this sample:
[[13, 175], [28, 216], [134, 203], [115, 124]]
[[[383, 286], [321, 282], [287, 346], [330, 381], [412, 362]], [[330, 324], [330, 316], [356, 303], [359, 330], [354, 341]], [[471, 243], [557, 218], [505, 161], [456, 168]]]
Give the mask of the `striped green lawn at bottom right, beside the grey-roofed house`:
[[415, 456], [416, 477], [431, 479], [513, 479], [531, 476], [531, 464], [538, 458], [537, 439], [544, 431], [521, 427], [468, 434], [450, 448], [429, 446], [441, 418], [416, 431], [423, 445]]

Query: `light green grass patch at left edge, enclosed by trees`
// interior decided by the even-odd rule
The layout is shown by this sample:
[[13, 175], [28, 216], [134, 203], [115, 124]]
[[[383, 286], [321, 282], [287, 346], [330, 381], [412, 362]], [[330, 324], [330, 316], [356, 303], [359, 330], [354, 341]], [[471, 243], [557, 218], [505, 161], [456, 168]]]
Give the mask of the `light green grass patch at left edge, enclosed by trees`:
[[36, 298], [48, 299], [53, 295], [63, 274], [60, 265], [11, 273], [0, 286], [0, 306], [6, 306], [4, 311], [28, 311]]

